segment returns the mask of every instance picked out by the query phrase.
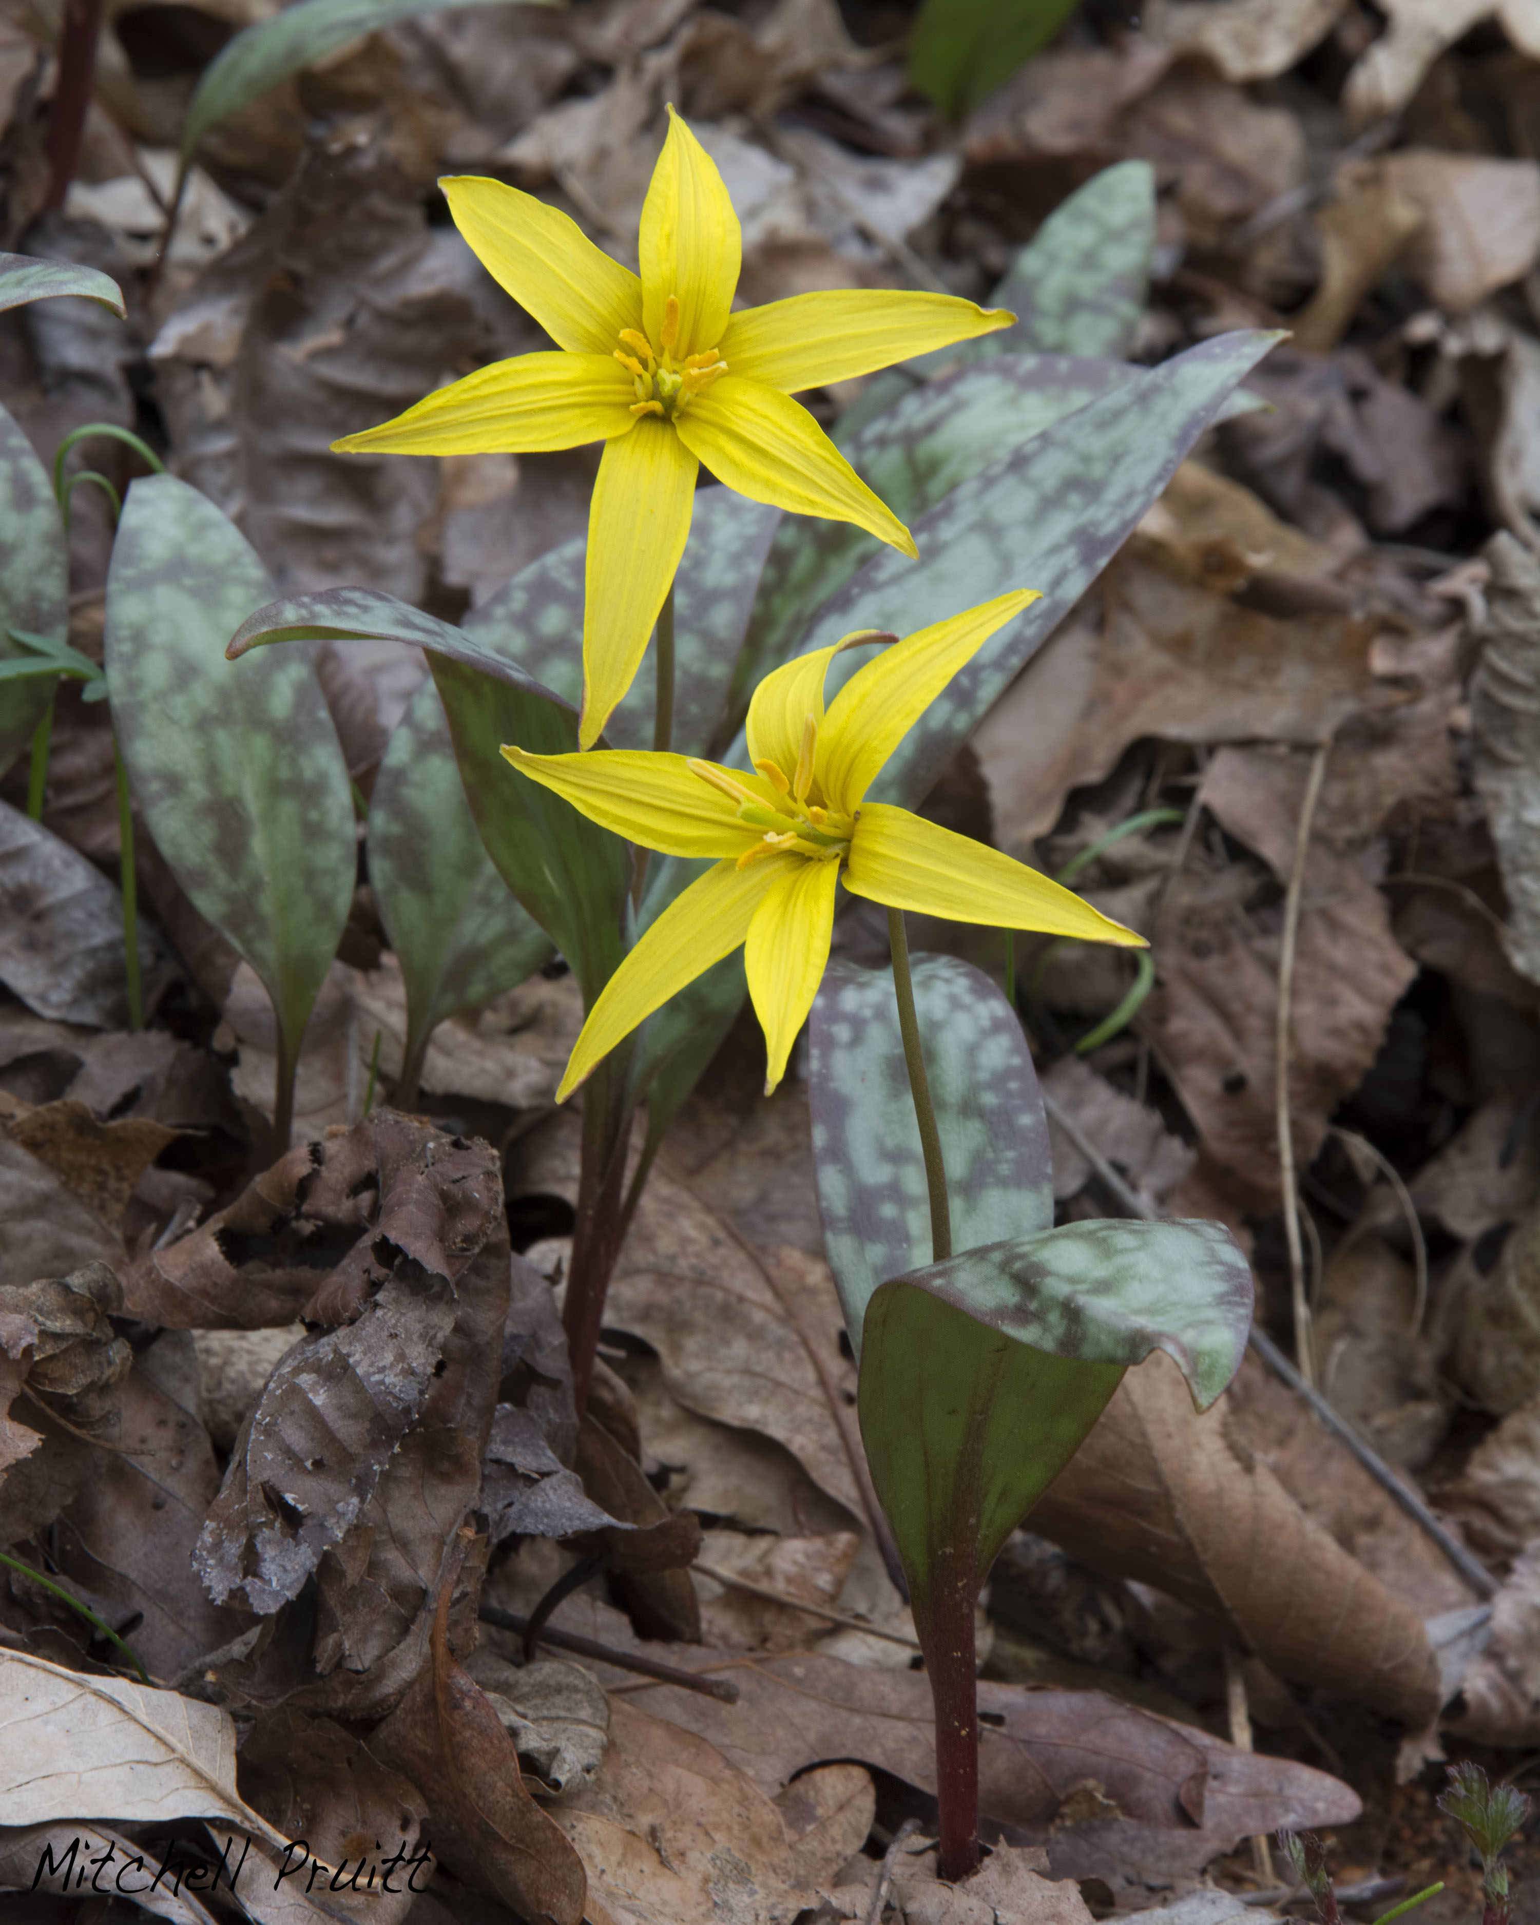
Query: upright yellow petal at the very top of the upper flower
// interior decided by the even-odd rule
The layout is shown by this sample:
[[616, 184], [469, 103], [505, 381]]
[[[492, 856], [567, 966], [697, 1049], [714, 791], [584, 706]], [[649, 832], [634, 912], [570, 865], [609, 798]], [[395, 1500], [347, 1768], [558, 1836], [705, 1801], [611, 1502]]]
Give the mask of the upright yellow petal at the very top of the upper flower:
[[[647, 339], [676, 360], [705, 354], [722, 339], [743, 262], [743, 233], [716, 162], [668, 110], [668, 139], [641, 210], [641, 289]], [[680, 333], [664, 341], [668, 296], [680, 302]]]

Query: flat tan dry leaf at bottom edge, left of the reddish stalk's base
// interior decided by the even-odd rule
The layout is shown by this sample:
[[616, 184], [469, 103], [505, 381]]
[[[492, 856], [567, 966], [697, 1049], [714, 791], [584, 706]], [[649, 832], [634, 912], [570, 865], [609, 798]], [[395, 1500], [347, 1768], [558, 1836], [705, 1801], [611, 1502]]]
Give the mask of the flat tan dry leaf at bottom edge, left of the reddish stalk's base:
[[[872, 1825], [872, 1781], [864, 1771], [864, 1783], [855, 1781], [849, 1765], [834, 1769], [834, 1784], [820, 1786], [835, 1792], [834, 1810], [820, 1810], [830, 1800], [799, 1781], [801, 1796], [783, 1813], [760, 1788], [762, 1775], [755, 1783], [708, 1738], [618, 1698], [599, 1777], [552, 1815], [595, 1894], [628, 1925], [791, 1925], [812, 1902], [816, 1875], [832, 1877]], [[793, 1813], [812, 1819], [803, 1840], [816, 1840], [816, 1854], [797, 1856]], [[801, 1873], [812, 1873], [807, 1885]]]

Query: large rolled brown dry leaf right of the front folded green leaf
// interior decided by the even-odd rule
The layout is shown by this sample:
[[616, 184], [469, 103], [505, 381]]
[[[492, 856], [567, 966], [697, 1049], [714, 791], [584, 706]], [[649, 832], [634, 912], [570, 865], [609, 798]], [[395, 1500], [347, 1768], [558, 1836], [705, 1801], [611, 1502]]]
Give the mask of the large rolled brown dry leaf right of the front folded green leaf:
[[1030, 1525], [1093, 1571], [1226, 1617], [1280, 1677], [1415, 1729], [1438, 1709], [1423, 1615], [1299, 1509], [1224, 1401], [1197, 1417], [1165, 1359], [1124, 1376]]

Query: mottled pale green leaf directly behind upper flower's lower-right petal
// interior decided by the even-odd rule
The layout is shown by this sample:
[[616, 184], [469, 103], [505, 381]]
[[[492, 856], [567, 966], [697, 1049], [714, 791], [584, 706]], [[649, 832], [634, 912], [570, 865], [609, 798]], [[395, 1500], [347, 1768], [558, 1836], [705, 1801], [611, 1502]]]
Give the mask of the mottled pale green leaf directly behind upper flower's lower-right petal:
[[[1013, 454], [1045, 427], [1140, 377], [1142, 370], [1122, 362], [1005, 356], [961, 368], [926, 387], [911, 387], [874, 420], [835, 439], [893, 514], [914, 522], [959, 483]], [[787, 516], [764, 564], [733, 685], [733, 722], [743, 718], [755, 683], [801, 653], [803, 631], [816, 610], [884, 552], [874, 535], [849, 522]], [[936, 558], [924, 541], [920, 554]], [[970, 599], [961, 595], [957, 606], [966, 606]], [[851, 624], [859, 626], [864, 624]], [[916, 626], [909, 622], [899, 633]]]

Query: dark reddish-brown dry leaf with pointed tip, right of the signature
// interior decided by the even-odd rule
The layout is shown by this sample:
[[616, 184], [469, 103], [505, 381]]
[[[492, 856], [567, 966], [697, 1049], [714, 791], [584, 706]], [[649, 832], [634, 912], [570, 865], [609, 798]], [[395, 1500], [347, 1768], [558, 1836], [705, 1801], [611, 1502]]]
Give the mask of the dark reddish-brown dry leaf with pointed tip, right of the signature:
[[514, 1740], [449, 1648], [450, 1586], [433, 1613], [429, 1661], [370, 1750], [425, 1788], [439, 1856], [531, 1925], [579, 1925], [583, 1865], [535, 1804]]

